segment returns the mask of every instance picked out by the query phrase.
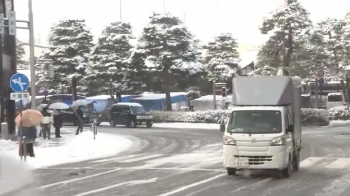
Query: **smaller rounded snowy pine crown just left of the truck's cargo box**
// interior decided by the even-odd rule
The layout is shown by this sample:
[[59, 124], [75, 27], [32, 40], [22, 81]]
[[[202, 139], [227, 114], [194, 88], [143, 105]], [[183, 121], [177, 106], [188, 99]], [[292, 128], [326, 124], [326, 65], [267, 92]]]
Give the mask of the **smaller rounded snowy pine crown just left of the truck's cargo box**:
[[222, 33], [205, 47], [209, 81], [227, 82], [236, 74], [239, 62], [238, 44], [231, 33]]

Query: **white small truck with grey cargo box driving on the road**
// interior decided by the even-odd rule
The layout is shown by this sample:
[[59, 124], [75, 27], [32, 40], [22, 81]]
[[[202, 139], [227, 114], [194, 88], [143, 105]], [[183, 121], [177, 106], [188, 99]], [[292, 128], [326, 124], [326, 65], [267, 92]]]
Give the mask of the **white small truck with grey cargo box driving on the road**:
[[234, 105], [224, 132], [224, 166], [276, 169], [283, 177], [299, 170], [301, 79], [290, 76], [236, 77]]

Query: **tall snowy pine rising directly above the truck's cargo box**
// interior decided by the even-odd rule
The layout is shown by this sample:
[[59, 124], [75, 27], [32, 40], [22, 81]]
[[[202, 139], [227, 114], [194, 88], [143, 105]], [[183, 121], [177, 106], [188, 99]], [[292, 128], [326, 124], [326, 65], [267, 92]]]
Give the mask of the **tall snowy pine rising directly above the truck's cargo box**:
[[257, 67], [282, 67], [284, 75], [288, 75], [289, 70], [296, 74], [302, 72], [296, 51], [304, 45], [299, 42], [298, 36], [310, 25], [309, 13], [300, 3], [297, 0], [286, 0], [263, 20], [260, 28], [262, 34], [272, 33], [272, 36], [258, 54]]

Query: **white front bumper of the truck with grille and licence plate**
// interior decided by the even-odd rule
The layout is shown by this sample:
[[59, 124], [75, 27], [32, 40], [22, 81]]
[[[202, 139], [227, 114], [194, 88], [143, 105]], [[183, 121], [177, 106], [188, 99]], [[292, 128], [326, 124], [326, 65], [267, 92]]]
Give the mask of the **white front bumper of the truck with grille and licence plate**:
[[[224, 145], [224, 166], [246, 169], [283, 169], [288, 165], [286, 146], [271, 146], [267, 152], [238, 151], [237, 146]], [[242, 165], [242, 163], [244, 163]], [[247, 164], [248, 163], [248, 164]]]

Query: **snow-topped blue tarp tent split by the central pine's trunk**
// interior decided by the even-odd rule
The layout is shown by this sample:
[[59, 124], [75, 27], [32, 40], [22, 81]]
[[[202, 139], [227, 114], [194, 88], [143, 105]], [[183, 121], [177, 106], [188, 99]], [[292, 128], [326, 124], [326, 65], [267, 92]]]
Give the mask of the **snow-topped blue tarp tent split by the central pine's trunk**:
[[[188, 103], [187, 93], [186, 92], [172, 92], [170, 93], [171, 103]], [[141, 104], [146, 111], [151, 110], [165, 110], [166, 102], [165, 102], [165, 94], [146, 94], [142, 97], [137, 97], [131, 99], [131, 102]]]

